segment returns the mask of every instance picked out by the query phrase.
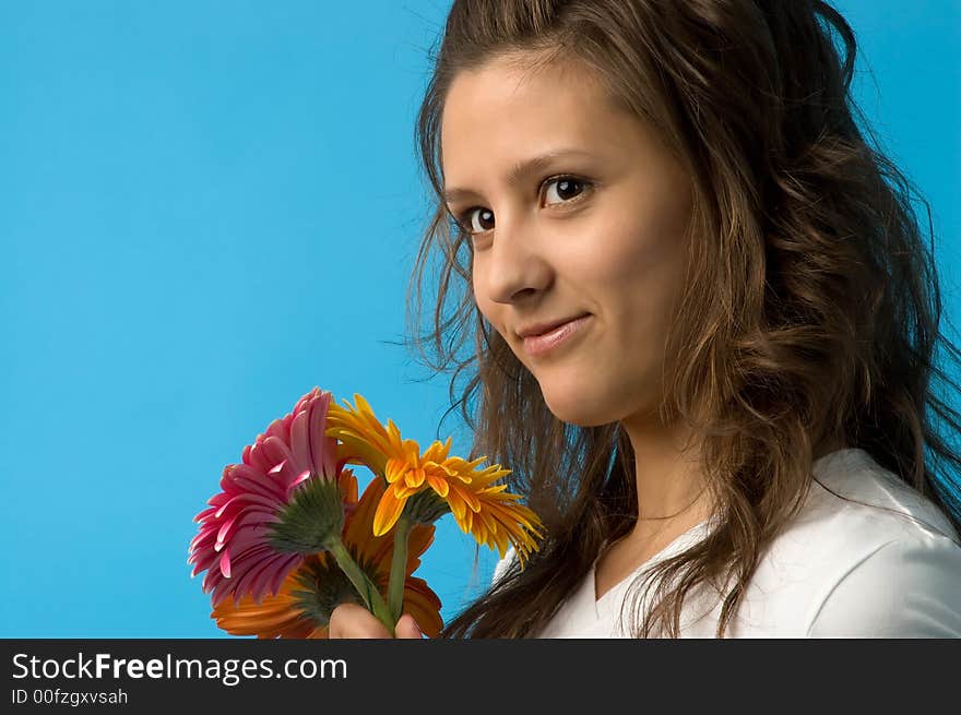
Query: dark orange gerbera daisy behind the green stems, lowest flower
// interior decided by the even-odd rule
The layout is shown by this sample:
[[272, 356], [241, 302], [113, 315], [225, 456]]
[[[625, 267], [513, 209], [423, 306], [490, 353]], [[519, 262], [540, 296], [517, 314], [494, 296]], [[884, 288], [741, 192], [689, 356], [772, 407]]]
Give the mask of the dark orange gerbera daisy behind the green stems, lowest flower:
[[[344, 546], [371, 583], [384, 593], [394, 548], [393, 532], [373, 534], [375, 509], [384, 492], [383, 480], [375, 478], [357, 500], [357, 478], [349, 469], [340, 477], [341, 493], [347, 515], [342, 539]], [[420, 565], [420, 556], [434, 540], [432, 525], [416, 525], [407, 541], [403, 610], [411, 613], [428, 636], [434, 637], [443, 625], [440, 599], [427, 582], [411, 574]], [[324, 639], [331, 611], [337, 604], [363, 605], [351, 581], [329, 552], [305, 557], [304, 562], [284, 580], [276, 595], [266, 595], [260, 603], [247, 595], [236, 604], [227, 598], [214, 608], [211, 618], [233, 635], [256, 635], [260, 639]]]

